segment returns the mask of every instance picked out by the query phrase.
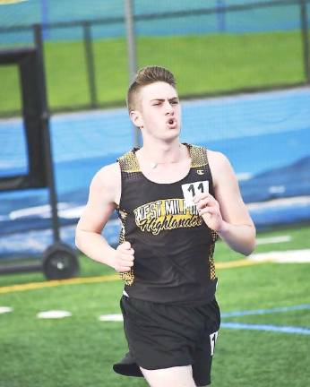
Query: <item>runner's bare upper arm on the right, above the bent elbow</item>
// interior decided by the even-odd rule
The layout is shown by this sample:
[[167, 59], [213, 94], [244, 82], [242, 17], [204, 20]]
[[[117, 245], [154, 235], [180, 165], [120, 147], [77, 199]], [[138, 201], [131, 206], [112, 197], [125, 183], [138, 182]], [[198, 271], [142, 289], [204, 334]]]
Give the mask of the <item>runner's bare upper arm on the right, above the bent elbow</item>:
[[236, 225], [253, 225], [240, 193], [237, 176], [225, 156], [221, 155], [220, 162], [214, 168], [214, 175], [214, 193], [220, 204], [222, 218]]

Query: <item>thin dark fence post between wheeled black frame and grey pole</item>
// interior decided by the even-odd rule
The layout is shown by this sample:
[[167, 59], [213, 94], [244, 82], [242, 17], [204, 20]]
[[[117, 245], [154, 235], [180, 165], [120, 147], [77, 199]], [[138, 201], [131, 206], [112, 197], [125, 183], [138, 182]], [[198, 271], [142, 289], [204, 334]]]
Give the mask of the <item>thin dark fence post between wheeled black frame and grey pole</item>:
[[89, 88], [90, 88], [90, 106], [97, 107], [98, 100], [97, 100], [95, 64], [94, 64], [94, 55], [93, 55], [93, 49], [92, 49], [90, 22], [83, 23], [83, 35], [84, 35], [87, 75], [88, 75], [88, 82], [89, 82]]

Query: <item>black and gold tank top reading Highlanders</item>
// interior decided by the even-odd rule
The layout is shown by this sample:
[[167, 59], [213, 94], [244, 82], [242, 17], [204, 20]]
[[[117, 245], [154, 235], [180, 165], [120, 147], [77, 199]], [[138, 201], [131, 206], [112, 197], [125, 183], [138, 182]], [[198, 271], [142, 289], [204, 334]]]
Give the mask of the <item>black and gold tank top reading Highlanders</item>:
[[205, 148], [185, 145], [191, 168], [176, 183], [157, 184], [146, 178], [136, 148], [117, 159], [122, 174], [119, 243], [128, 241], [134, 249], [132, 270], [120, 274], [129, 297], [184, 305], [202, 305], [214, 298], [213, 252], [218, 235], [195, 206], [185, 207], [182, 191], [182, 185], [194, 189], [197, 182], [207, 180], [214, 195], [211, 170]]

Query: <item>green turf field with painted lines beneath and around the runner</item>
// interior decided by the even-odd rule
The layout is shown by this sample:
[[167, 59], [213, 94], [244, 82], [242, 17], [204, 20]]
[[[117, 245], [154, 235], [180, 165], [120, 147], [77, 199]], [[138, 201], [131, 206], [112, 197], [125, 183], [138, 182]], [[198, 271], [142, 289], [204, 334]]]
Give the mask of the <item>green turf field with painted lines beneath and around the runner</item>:
[[[259, 238], [290, 236], [288, 242], [257, 245], [256, 253], [310, 248], [310, 226], [260, 233]], [[216, 262], [244, 259], [217, 245]], [[113, 275], [81, 258], [82, 277]], [[218, 269], [218, 301], [223, 314], [236, 311], [310, 305], [309, 263], [259, 263]], [[119, 314], [122, 281], [61, 285], [12, 291], [4, 286], [42, 281], [40, 273], [0, 277], [1, 387], [146, 386], [141, 379], [111, 371], [126, 350], [121, 322], [99, 322], [101, 314]], [[66, 310], [63, 320], [39, 320], [36, 314]], [[223, 323], [271, 324], [310, 329], [309, 309], [222, 318]], [[217, 342], [214, 387], [306, 387], [309, 383], [310, 336], [279, 331], [221, 328]]]

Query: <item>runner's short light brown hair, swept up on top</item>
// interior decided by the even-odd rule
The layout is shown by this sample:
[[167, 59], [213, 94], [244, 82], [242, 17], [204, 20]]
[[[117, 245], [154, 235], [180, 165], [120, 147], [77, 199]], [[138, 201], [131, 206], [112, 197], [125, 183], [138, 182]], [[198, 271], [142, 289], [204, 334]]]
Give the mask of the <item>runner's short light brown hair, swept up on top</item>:
[[177, 83], [173, 73], [170, 73], [165, 67], [155, 65], [142, 67], [135, 75], [127, 92], [126, 104], [129, 113], [136, 109], [139, 91], [142, 87], [154, 82], [166, 82], [174, 88], [176, 88]]

